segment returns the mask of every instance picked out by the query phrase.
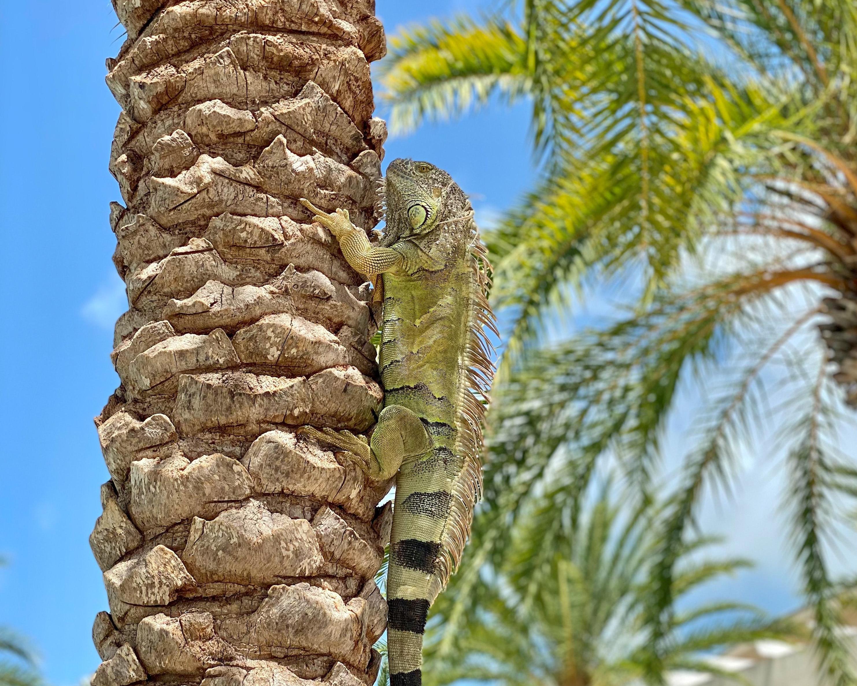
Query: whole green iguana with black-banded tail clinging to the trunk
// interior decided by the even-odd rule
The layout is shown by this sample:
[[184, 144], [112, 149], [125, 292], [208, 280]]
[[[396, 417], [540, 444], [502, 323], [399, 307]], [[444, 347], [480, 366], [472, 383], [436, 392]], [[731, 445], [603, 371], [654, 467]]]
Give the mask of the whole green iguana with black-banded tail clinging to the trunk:
[[387, 647], [391, 685], [415, 686], [428, 608], [458, 565], [481, 495], [482, 423], [494, 374], [484, 329], [497, 329], [490, 267], [467, 196], [446, 171], [411, 159], [394, 160], [383, 187], [387, 227], [379, 246], [347, 210], [327, 214], [302, 200], [383, 293], [385, 390], [369, 443], [348, 431], [303, 431], [351, 453], [370, 478], [398, 472]]

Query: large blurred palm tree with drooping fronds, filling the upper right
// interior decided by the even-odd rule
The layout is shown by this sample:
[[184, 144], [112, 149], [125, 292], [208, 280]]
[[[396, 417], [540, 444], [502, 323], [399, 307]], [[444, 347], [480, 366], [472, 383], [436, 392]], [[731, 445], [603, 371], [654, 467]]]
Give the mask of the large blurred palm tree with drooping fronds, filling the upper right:
[[[650, 490], [678, 390], [704, 375], [718, 382], [704, 384], [651, 569], [650, 645], [673, 630], [676, 563], [705, 487], [731, 487], [764, 425], [778, 444], [756, 449], [788, 474], [824, 666], [857, 683], [827, 559], [857, 478], [836, 442], [853, 420], [843, 395], [857, 405], [857, 4], [527, 0], [392, 45], [394, 129], [527, 98], [542, 170], [488, 236], [507, 346], [486, 505], [455, 583], [476, 589], [475, 570], [505, 556], [546, 470], [564, 473], [554, 508], [578, 499], [598, 460]], [[549, 322], [596, 280], [620, 284], [632, 310], [563, 340]], [[545, 526], [535, 552], [549, 569]], [[453, 624], [473, 616], [464, 598]], [[656, 680], [666, 658], [650, 657]]]

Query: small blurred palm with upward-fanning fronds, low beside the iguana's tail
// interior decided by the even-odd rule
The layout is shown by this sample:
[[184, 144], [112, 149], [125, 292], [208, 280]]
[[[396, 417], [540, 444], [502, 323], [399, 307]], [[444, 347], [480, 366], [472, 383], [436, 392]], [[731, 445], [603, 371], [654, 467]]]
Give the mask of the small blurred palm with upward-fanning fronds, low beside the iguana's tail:
[[[546, 494], [547, 495], [547, 494]], [[427, 686], [494, 683], [502, 686], [618, 686], [638, 683], [650, 664], [647, 607], [650, 569], [659, 545], [662, 508], [621, 508], [603, 488], [582, 505], [575, 525], [567, 512], [550, 512], [549, 500], [524, 516], [506, 562], [483, 568], [474, 614], [451, 632], [460, 585], [438, 599], [426, 648]], [[560, 517], [545, 566], [540, 555], [542, 518]], [[670, 619], [659, 659], [666, 669], [721, 673], [705, 659], [724, 647], [794, 633], [770, 623], [750, 605], [692, 605], [687, 596], [723, 575], [748, 566], [740, 559], [709, 559], [716, 541], [682, 546], [674, 598], [685, 609]], [[381, 675], [380, 684], [386, 683]]]

